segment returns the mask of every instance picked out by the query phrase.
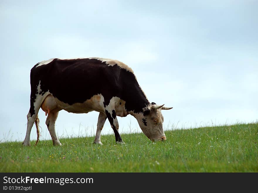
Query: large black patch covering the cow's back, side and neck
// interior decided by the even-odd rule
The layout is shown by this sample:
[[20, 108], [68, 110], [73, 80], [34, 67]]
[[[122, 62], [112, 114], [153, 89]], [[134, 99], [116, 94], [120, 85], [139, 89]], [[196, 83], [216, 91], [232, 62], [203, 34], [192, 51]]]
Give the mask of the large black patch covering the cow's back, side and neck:
[[55, 98], [69, 105], [83, 103], [97, 94], [103, 95], [104, 107], [115, 96], [125, 101], [128, 112], [139, 113], [149, 105], [135, 75], [117, 64], [108, 66], [101, 60], [88, 58], [54, 59], [49, 64], [38, 64], [30, 71], [31, 116], [35, 114], [33, 104], [39, 81], [41, 95], [49, 91]]

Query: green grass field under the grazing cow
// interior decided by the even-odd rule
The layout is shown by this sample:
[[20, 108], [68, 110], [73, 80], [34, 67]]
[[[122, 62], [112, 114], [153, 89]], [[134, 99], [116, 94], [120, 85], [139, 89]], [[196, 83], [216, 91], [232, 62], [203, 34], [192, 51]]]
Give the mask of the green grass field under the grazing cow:
[[143, 133], [0, 144], [0, 172], [258, 172], [258, 123], [165, 131], [153, 143]]

